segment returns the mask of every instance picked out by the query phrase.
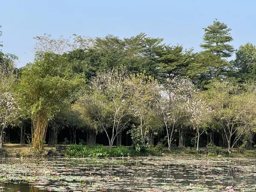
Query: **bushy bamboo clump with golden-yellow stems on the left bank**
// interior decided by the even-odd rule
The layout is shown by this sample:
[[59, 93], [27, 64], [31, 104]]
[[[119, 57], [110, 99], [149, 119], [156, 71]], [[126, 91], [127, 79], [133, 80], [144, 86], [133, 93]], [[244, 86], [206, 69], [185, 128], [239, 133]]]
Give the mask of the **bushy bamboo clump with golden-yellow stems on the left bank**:
[[67, 58], [53, 53], [46, 53], [41, 60], [26, 65], [18, 84], [18, 95], [20, 106], [32, 119], [34, 148], [43, 148], [49, 119], [61, 110], [63, 100], [82, 81], [70, 70]]

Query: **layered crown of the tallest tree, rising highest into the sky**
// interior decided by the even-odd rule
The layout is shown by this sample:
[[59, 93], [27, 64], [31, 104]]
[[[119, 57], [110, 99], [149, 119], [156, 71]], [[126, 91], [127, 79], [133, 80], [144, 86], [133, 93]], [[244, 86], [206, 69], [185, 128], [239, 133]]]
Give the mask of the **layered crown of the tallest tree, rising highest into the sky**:
[[234, 47], [228, 43], [233, 41], [233, 38], [230, 34], [231, 29], [227, 27], [227, 24], [215, 19], [212, 25], [203, 29], [205, 32], [204, 44], [201, 44], [200, 47], [222, 58], [232, 56]]

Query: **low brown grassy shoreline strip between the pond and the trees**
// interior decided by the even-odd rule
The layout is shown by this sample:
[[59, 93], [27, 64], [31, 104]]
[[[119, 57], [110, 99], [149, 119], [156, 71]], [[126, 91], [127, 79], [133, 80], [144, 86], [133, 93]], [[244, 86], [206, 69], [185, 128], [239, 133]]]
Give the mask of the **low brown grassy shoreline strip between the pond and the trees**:
[[[3, 149], [0, 150], [0, 158], [24, 158], [24, 157], [70, 157], [67, 155], [67, 148], [72, 145], [45, 145], [44, 150], [40, 153], [35, 151], [29, 145], [20, 144], [5, 144]], [[99, 145], [102, 146], [102, 145]], [[84, 145], [83, 147], [88, 147]], [[96, 147], [97, 148], [97, 147]], [[102, 148], [108, 148], [108, 146], [102, 146]], [[200, 148], [196, 151], [194, 148], [172, 148], [171, 151], [168, 148], [163, 148], [161, 151], [156, 151], [154, 148], [146, 149], [144, 152], [134, 152], [133, 154], [124, 154], [122, 156], [109, 156], [109, 157], [241, 157], [241, 158], [256, 158], [256, 148], [253, 149], [233, 149], [231, 154], [227, 153], [227, 149], [221, 148], [219, 154], [213, 154], [209, 148]], [[74, 157], [74, 156], [73, 156]], [[93, 157], [93, 156], [92, 156]], [[95, 156], [96, 157], [96, 156]], [[82, 158], [82, 157], [76, 157]], [[103, 157], [99, 157], [103, 158]]]

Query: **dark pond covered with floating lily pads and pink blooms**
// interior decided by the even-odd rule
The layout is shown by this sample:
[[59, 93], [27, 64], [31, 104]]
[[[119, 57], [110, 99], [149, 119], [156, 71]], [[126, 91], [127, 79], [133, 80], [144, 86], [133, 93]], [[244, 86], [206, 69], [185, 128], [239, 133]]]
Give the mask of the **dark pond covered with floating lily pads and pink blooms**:
[[7, 159], [0, 191], [255, 191], [256, 159]]

